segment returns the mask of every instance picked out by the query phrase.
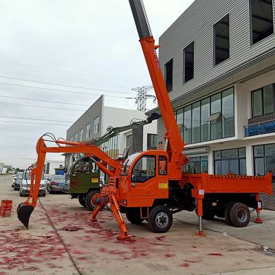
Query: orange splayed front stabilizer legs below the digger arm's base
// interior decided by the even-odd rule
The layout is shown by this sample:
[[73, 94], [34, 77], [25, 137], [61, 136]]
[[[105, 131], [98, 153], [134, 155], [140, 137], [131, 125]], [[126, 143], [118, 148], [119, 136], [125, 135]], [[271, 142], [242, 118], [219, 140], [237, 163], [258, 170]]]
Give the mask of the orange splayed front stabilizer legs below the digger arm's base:
[[122, 219], [121, 213], [120, 213], [120, 206], [118, 205], [118, 201], [115, 199], [115, 196], [113, 194], [96, 194], [93, 197], [93, 203], [96, 205], [96, 208], [91, 214], [91, 221], [97, 221], [96, 216], [98, 212], [104, 206], [106, 206], [108, 203], [111, 204], [111, 212], [113, 212], [113, 215], [115, 216], [116, 221], [118, 222], [118, 226], [120, 227], [121, 233], [120, 236], [117, 237], [118, 240], [127, 241], [131, 238], [131, 235], [128, 234], [126, 223], [124, 219]]

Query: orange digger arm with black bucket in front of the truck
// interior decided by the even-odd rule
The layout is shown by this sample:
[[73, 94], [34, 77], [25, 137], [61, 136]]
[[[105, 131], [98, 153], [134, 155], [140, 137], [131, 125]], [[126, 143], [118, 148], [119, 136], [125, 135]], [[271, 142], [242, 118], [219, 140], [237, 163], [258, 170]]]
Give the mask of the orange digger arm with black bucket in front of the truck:
[[[48, 140], [49, 141], [49, 140]], [[39, 186], [43, 173], [45, 157], [47, 153], [83, 153], [88, 157], [96, 157], [100, 159], [96, 165], [110, 177], [118, 176], [120, 173], [121, 164], [116, 162], [104, 153], [98, 146], [84, 143], [67, 142], [65, 140], [54, 140], [57, 146], [47, 147], [43, 137], [40, 137], [36, 144], [37, 161], [36, 164], [30, 167], [31, 184], [28, 199], [19, 204], [17, 215], [19, 221], [28, 228], [30, 215], [36, 207], [36, 201], [39, 196]], [[106, 164], [110, 168], [107, 168]]]

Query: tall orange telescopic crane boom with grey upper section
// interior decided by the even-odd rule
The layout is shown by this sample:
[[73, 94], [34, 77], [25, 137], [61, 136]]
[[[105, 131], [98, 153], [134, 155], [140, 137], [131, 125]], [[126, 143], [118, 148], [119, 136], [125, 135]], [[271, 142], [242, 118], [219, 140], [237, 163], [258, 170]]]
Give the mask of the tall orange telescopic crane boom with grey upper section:
[[155, 89], [155, 95], [157, 96], [159, 110], [164, 120], [166, 129], [166, 151], [169, 156], [168, 162], [170, 162], [170, 166], [172, 167], [170, 169], [170, 179], [181, 179], [181, 166], [186, 164], [187, 157], [182, 154], [184, 143], [175, 120], [172, 104], [170, 103], [170, 98], [166, 89], [166, 83], [159, 66], [156, 52], [158, 46], [155, 45], [155, 40], [151, 34], [151, 28], [148, 24], [142, 0], [129, 0], [129, 3], [131, 5], [137, 32], [140, 36], [140, 44], [142, 45], [148, 72]]

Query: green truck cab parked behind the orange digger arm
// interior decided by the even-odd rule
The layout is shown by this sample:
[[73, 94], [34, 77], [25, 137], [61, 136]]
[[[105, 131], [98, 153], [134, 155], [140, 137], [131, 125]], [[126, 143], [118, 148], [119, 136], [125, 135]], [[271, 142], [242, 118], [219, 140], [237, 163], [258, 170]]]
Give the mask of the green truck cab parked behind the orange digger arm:
[[94, 210], [91, 197], [103, 184], [104, 177], [100, 177], [100, 170], [90, 157], [78, 158], [65, 175], [64, 192], [70, 194], [72, 199], [78, 199], [81, 206]]

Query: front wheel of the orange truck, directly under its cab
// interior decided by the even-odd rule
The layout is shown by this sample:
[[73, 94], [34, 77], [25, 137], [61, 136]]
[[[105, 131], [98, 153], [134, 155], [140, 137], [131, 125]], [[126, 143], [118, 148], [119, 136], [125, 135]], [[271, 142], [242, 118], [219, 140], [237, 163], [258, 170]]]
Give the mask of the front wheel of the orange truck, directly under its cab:
[[155, 206], [148, 219], [148, 227], [155, 233], [167, 232], [173, 223], [173, 214], [165, 206]]

